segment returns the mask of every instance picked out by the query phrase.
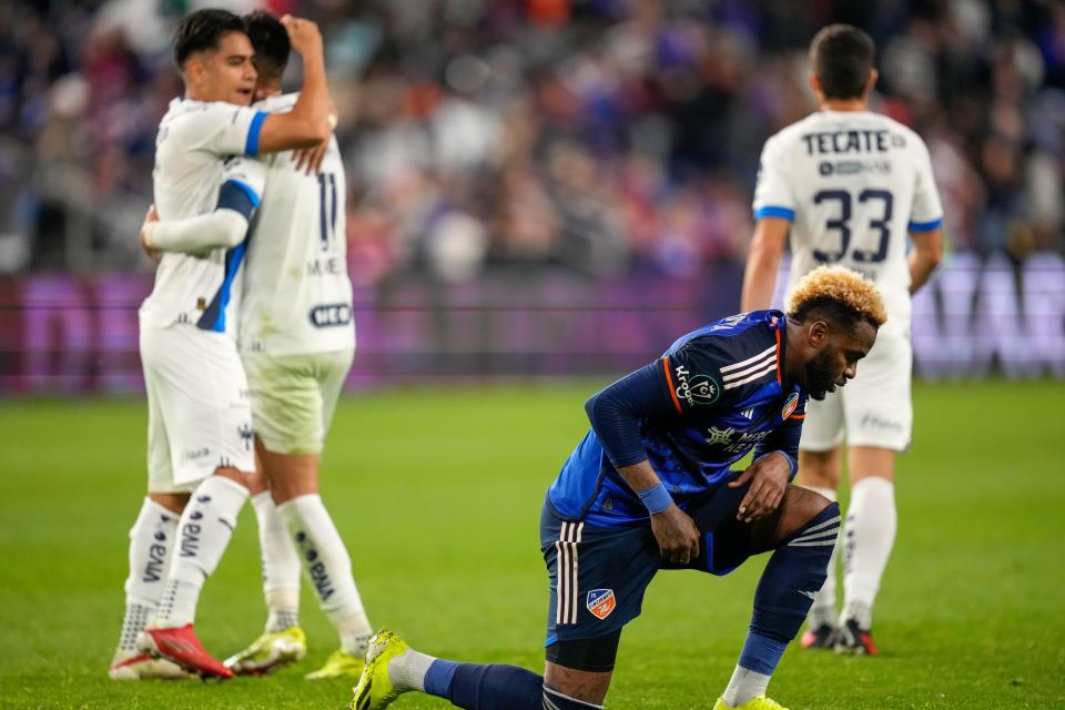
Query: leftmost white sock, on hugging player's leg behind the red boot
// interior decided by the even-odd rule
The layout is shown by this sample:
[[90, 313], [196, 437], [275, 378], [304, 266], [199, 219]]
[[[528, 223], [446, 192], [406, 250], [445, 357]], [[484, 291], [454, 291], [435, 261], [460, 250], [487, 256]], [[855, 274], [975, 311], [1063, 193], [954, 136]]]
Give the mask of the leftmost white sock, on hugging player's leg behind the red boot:
[[176, 531], [178, 514], [144, 498], [130, 528], [130, 576], [125, 579], [125, 615], [119, 638], [123, 651], [136, 650], [136, 635], [159, 608]]

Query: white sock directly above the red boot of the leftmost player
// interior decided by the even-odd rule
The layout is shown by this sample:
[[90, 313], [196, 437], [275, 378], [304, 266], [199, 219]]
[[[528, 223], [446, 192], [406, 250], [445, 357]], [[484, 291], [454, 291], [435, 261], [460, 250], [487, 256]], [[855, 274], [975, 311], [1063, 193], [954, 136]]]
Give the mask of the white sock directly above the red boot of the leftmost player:
[[195, 620], [200, 590], [219, 566], [245, 500], [247, 488], [223, 476], [206, 478], [193, 491], [178, 524], [156, 627], [178, 628]]

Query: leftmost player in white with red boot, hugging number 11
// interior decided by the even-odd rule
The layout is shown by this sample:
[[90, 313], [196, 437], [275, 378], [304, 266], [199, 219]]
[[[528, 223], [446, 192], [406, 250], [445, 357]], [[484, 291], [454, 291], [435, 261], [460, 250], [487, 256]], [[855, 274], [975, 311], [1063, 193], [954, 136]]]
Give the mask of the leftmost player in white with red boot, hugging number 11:
[[[160, 256], [140, 311], [149, 403], [148, 497], [130, 530], [130, 576], [114, 679], [229, 678], [193, 631], [200, 591], [247, 498], [252, 410], [234, 334], [241, 262], [261, 187], [242, 155], [310, 148], [329, 133], [322, 38], [285, 18], [304, 55], [300, 105], [284, 115], [248, 108], [252, 45], [240, 17], [200, 10], [174, 34], [185, 97], [160, 123], [153, 191], [162, 222], [142, 231]], [[176, 221], [176, 226], [166, 226]]]

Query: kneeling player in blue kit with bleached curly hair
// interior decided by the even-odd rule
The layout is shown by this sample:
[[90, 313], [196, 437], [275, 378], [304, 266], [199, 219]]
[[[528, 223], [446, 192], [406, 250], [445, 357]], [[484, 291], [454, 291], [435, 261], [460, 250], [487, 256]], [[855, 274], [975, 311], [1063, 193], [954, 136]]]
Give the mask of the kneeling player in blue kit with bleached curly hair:
[[[544, 676], [433, 658], [381, 631], [352, 707], [418, 691], [469, 710], [600, 708], [621, 629], [659, 569], [723, 575], [772, 551], [714, 710], [782, 708], [765, 688], [824, 584], [840, 528], [838, 504], [789, 483], [807, 397], [853, 378], [885, 318], [870, 282], [821, 267], [795, 286], [787, 315], [711, 323], [592, 396], [591, 430], [540, 517], [551, 582]], [[730, 470], [752, 448], [753, 464]]]

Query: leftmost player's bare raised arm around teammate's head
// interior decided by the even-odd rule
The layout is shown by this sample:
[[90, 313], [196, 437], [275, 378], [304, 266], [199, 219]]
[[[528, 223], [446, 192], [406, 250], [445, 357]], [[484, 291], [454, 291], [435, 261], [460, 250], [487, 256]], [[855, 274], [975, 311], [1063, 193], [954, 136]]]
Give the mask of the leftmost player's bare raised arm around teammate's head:
[[262, 153], [320, 145], [333, 133], [336, 120], [318, 26], [287, 14], [281, 22], [288, 31], [292, 48], [303, 55], [303, 89], [292, 111], [271, 113], [263, 120], [257, 146]]

